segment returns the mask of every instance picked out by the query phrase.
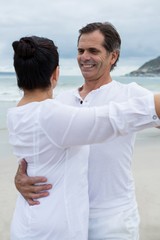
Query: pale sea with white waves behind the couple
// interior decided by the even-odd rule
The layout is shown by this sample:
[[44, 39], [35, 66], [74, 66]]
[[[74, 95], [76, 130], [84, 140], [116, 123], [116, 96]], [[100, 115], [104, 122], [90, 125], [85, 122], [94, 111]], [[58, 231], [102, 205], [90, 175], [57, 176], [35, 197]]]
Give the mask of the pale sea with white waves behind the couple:
[[[160, 92], [160, 77], [112, 76], [112, 78], [124, 84], [136, 82], [154, 93]], [[82, 76], [60, 76], [54, 96], [62, 91], [75, 89], [82, 84]], [[17, 87], [15, 73], [0, 73], [0, 130], [6, 129], [8, 108], [15, 106], [21, 97], [22, 91]]]

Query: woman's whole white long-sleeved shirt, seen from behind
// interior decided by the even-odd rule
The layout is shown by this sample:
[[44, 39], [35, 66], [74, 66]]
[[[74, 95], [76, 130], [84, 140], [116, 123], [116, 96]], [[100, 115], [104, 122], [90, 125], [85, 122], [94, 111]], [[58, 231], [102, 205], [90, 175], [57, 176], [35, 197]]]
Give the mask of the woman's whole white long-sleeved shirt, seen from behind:
[[153, 114], [152, 94], [90, 109], [55, 100], [10, 109], [7, 119], [14, 154], [26, 159], [29, 176], [44, 175], [53, 184], [50, 196], [42, 198], [40, 205], [29, 206], [18, 197], [11, 240], [87, 240], [89, 147], [80, 145], [112, 141], [128, 131], [157, 126]]

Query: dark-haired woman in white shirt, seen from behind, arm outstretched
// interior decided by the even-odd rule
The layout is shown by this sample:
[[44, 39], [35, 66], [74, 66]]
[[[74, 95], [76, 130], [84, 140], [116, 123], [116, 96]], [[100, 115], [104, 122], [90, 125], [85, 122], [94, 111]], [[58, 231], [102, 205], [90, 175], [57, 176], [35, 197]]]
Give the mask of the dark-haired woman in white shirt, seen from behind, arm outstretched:
[[[22, 196], [18, 197], [11, 240], [87, 240], [87, 144], [146, 127], [149, 118], [143, 124], [136, 119], [146, 119], [150, 114], [143, 109], [150, 102], [154, 105], [153, 96], [139, 100], [142, 111], [138, 110], [127, 127], [121, 126], [118, 104], [77, 109], [52, 99], [59, 75], [59, 56], [53, 41], [25, 37], [14, 42], [13, 49], [17, 84], [24, 95], [8, 112], [10, 143], [17, 158], [26, 159], [28, 175], [45, 175], [54, 187], [40, 205], [29, 206]], [[131, 105], [134, 108], [130, 102], [122, 109]]]

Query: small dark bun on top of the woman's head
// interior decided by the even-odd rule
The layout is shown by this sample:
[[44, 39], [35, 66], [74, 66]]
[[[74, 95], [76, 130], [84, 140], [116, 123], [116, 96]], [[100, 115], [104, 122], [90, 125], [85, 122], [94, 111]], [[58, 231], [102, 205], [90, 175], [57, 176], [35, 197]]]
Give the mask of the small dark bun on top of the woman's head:
[[21, 58], [32, 58], [36, 51], [35, 43], [31, 37], [21, 38], [20, 41], [12, 43], [12, 47], [16, 55]]

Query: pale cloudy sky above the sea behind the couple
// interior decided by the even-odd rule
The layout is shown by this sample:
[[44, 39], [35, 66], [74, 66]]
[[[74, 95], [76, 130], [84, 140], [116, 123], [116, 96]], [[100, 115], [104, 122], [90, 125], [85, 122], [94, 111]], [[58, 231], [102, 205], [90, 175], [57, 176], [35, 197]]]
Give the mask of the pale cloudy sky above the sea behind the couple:
[[160, 56], [159, 0], [0, 0], [0, 71], [14, 71], [13, 41], [37, 35], [58, 46], [62, 75], [80, 75], [78, 30], [105, 21], [116, 27], [122, 40], [113, 75]]

